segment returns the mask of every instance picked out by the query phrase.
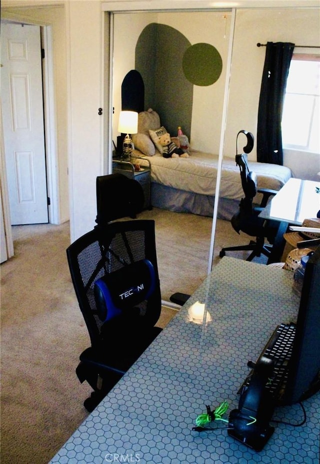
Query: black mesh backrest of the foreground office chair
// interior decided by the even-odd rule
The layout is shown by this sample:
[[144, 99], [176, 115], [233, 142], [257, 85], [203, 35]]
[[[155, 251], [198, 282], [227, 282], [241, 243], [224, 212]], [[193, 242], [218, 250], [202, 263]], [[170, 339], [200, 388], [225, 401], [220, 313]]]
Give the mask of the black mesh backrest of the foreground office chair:
[[[119, 221], [106, 227], [97, 226], [72, 243], [66, 252], [73, 286], [92, 347], [99, 346], [102, 336], [107, 336], [108, 324], [112, 326], [112, 330], [120, 330], [121, 324], [127, 320], [132, 324], [141, 323], [146, 330], [154, 326], [161, 311], [154, 221]], [[119, 275], [121, 270], [122, 275]], [[108, 295], [114, 304], [112, 308], [109, 305], [102, 309], [98, 307], [99, 300], [94, 288], [99, 279], [101, 282], [105, 276], [113, 275], [113, 282], [119, 284], [115, 290], [120, 294], [125, 291], [130, 293], [132, 287], [140, 284], [136, 276], [141, 273], [146, 275], [143, 280], [146, 285], [143, 288], [147, 286], [147, 290], [141, 293], [141, 301], [140, 295], [135, 295], [133, 309], [128, 307], [127, 302], [125, 307], [118, 308], [112, 294], [116, 287], [112, 285], [112, 277]]]

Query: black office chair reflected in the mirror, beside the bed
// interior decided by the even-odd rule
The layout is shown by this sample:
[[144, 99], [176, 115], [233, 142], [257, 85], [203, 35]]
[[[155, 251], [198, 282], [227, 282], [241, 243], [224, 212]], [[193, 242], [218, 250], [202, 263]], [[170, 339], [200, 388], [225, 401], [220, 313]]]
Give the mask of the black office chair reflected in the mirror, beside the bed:
[[[247, 139], [246, 146], [243, 147], [242, 154], [238, 154], [238, 136], [244, 134]], [[264, 240], [267, 239], [270, 244], [273, 243], [277, 231], [277, 225], [273, 221], [265, 221], [258, 217], [258, 214], [266, 206], [267, 201], [271, 195], [275, 195], [275, 190], [258, 189], [256, 175], [254, 172], [249, 171], [247, 163], [247, 154], [253, 148], [254, 138], [250, 132], [239, 131], [236, 136], [236, 155], [235, 162], [240, 169], [241, 184], [244, 192], [244, 198], [241, 199], [239, 204], [239, 211], [231, 218], [231, 225], [233, 229], [239, 234], [240, 231], [245, 234], [255, 237], [248, 245], [231, 246], [222, 248], [219, 256], [222, 258], [226, 251], [251, 251], [246, 261], [251, 261], [254, 257], [261, 254], [265, 256], [270, 255], [270, 245], [265, 245]], [[259, 207], [253, 207], [252, 202], [256, 193], [262, 193], [262, 200]]]

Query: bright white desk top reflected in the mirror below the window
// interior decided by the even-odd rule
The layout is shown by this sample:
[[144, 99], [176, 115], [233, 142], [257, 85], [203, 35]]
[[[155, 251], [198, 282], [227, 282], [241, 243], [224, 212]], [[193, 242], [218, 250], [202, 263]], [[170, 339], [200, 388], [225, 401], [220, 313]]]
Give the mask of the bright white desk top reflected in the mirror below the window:
[[301, 225], [305, 218], [314, 218], [320, 210], [320, 182], [289, 179], [270, 200], [259, 217]]

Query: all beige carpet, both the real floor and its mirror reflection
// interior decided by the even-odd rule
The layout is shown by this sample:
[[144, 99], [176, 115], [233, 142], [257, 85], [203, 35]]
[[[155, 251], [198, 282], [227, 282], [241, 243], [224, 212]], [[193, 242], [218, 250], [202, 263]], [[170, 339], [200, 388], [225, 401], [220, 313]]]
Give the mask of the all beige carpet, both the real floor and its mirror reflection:
[[[143, 216], [156, 221], [162, 297], [192, 293], [206, 276], [211, 220]], [[87, 416], [90, 388], [75, 367], [89, 339], [67, 268], [68, 224], [12, 233], [15, 256], [1, 264], [1, 464], [45, 464]], [[246, 240], [218, 221], [217, 245]], [[173, 314], [163, 308], [159, 325]]]

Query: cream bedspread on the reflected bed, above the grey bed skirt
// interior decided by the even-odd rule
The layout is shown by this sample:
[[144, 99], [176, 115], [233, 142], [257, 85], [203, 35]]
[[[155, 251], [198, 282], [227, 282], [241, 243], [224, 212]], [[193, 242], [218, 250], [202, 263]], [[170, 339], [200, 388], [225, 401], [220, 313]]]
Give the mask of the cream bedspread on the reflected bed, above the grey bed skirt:
[[[159, 153], [144, 158], [151, 163], [152, 182], [201, 195], [215, 194], [217, 155], [193, 150], [188, 158], [163, 158]], [[143, 164], [143, 160], [139, 162]], [[291, 177], [290, 169], [285, 166], [252, 161], [248, 165], [257, 175], [258, 188], [279, 190]], [[240, 171], [234, 158], [223, 159], [219, 196], [231, 200], [243, 196]]]

